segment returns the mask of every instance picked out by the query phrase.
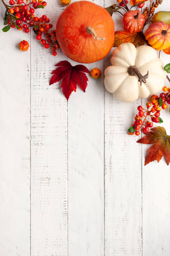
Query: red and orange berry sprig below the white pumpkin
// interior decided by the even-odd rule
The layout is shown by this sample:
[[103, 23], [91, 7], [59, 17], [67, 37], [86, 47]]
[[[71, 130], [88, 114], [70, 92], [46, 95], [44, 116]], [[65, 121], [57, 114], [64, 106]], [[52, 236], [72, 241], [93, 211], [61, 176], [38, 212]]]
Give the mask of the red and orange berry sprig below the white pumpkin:
[[[138, 115], [135, 116], [135, 122], [133, 125], [128, 129], [128, 133], [133, 135], [135, 133], [136, 136], [140, 135], [140, 128], [142, 129], [143, 133], [147, 133], [149, 128], [153, 127], [153, 122], [155, 123], [162, 123], [163, 120], [160, 118], [160, 110], [166, 109], [167, 104], [170, 104], [170, 87], [167, 88], [166, 86], [163, 87], [163, 91], [158, 95], [152, 95], [150, 97], [150, 102], [146, 103], [146, 108], [144, 109], [142, 106], [138, 106]], [[161, 108], [160, 108], [161, 107]], [[150, 117], [151, 122], [148, 120]]]

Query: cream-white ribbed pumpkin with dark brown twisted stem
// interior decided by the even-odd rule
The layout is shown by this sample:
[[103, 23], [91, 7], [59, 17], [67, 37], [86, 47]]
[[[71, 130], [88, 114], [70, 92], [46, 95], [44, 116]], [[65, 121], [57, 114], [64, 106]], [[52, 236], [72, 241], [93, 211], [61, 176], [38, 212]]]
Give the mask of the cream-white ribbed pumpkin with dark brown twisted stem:
[[119, 101], [147, 98], [164, 86], [163, 61], [150, 46], [135, 48], [131, 43], [121, 44], [113, 51], [111, 64], [105, 69], [105, 87]]

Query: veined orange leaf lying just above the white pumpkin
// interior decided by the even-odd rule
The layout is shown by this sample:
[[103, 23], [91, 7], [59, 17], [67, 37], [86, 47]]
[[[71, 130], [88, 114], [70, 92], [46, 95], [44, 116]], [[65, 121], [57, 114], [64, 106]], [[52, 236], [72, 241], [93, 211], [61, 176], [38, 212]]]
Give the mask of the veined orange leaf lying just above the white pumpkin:
[[127, 31], [116, 31], [115, 32], [115, 41], [113, 47], [117, 47], [120, 44], [132, 43], [136, 47], [137, 45], [144, 45], [145, 41], [143, 40], [140, 33], [129, 33]]

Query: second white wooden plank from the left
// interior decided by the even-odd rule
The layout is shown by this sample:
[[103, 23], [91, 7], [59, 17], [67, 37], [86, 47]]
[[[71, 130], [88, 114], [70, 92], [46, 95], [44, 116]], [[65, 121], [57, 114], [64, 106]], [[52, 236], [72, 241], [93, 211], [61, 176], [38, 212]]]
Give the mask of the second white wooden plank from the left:
[[[51, 0], [44, 10], [55, 24], [62, 9]], [[65, 57], [31, 43], [31, 255], [67, 256], [67, 100], [48, 85]]]

